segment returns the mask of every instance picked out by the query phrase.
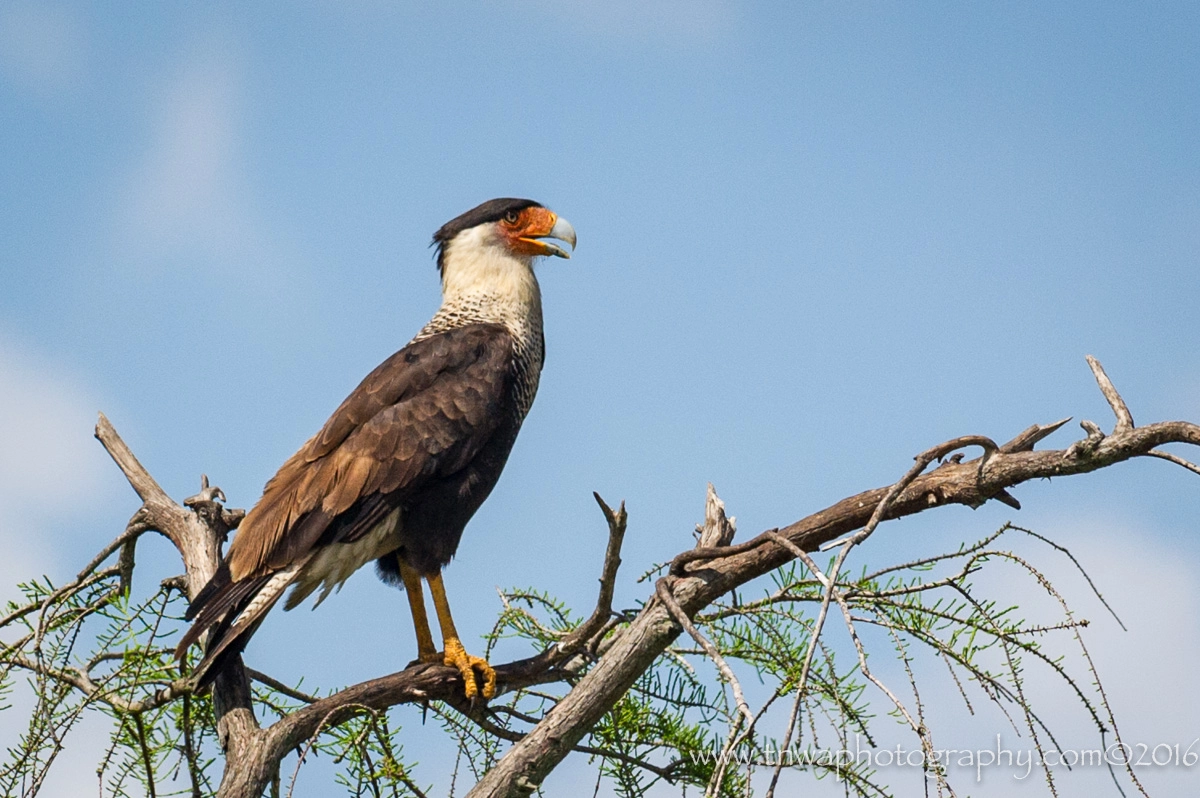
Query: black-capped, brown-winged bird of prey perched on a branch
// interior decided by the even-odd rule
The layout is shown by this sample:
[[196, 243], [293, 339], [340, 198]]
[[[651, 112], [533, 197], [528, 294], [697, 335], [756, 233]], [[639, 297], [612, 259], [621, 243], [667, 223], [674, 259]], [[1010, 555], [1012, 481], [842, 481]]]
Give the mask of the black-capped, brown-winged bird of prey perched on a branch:
[[175, 655], [182, 661], [208, 634], [192, 668], [197, 689], [244, 650], [288, 588], [286, 610], [317, 589], [319, 605], [374, 560], [380, 578], [408, 595], [418, 660], [457, 668], [467, 698], [494, 696], [496, 671], [466, 652], [455, 629], [442, 569], [496, 486], [538, 391], [545, 337], [534, 262], [570, 257], [550, 239], [575, 250], [570, 222], [516, 198], [485, 202], [433, 234], [437, 313], [266, 482], [190, 604], [192, 625]]

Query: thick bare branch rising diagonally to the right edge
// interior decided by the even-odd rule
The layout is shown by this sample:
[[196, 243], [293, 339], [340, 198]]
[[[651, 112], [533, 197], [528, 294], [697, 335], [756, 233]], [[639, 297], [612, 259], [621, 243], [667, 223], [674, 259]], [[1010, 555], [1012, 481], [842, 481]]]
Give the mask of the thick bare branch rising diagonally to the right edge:
[[[1092, 361], [1094, 359], [1090, 360], [1090, 365]], [[1146, 455], [1168, 443], [1200, 445], [1200, 426], [1187, 421], [1134, 427], [1124, 401], [1112, 388], [1099, 362], [1094, 362], [1092, 368], [1102, 392], [1117, 415], [1112, 434], [1104, 436], [1087, 422], [1084, 426], [1088, 437], [1084, 442], [1066, 450], [1033, 451], [1033, 444], [1044, 437], [1043, 430], [1052, 431], [1063, 422], [1031, 427], [1032, 432], [1026, 430], [1002, 446], [985, 446], [982, 457], [966, 462], [953, 458], [932, 472], [922, 473], [901, 490], [895, 490], [900, 485], [898, 482], [865, 491], [772, 532], [802, 551], [812, 552], [856, 529], [865, 530], [876, 512], [881, 521], [886, 521], [947, 504], [978, 508], [989, 499], [1004, 500], [1008, 497], [1007, 488], [1030, 480], [1086, 474]], [[959, 438], [930, 451], [937, 451], [935, 456], [944, 457], [956, 446], [978, 445], [984, 440], [988, 439]], [[895, 494], [889, 496], [893, 492]], [[725, 593], [768, 574], [793, 557], [788, 546], [763, 534], [738, 546], [714, 546], [685, 552], [674, 559], [672, 572], [664, 577], [664, 582], [682, 610], [695, 614]], [[596, 666], [485, 774], [468, 793], [468, 798], [532, 794], [682, 631], [664, 602], [653, 598]]]

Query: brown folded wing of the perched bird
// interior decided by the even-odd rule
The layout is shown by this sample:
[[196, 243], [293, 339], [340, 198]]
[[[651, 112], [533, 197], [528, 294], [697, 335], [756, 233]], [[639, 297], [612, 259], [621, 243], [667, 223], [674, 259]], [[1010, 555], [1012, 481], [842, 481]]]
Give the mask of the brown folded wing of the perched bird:
[[464, 468], [502, 420], [511, 359], [503, 326], [473, 324], [385, 360], [266, 484], [229, 546], [232, 580], [353, 540], [406, 492]]

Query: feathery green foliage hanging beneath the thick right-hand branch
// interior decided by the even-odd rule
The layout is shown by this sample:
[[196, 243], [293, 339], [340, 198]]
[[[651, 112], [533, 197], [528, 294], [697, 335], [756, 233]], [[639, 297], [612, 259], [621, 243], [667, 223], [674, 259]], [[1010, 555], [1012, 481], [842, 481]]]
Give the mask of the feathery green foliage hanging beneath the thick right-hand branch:
[[[598, 762], [598, 776], [623, 798], [644, 796], [661, 781], [683, 791], [698, 788], [706, 796], [745, 796], [762, 788], [774, 772], [785, 767], [816, 778], [838, 778], [848, 794], [888, 794], [865, 763], [835, 762], [815, 752], [850, 750], [857, 737], [875, 745], [881, 695], [887, 696], [882, 704], [887, 715], [932, 752], [920, 697], [922, 683], [929, 677], [917, 676], [926, 670], [918, 667], [918, 659], [930, 658], [942, 662], [941, 672], [948, 672], [949, 684], [970, 712], [974, 712], [972, 697], [998, 704], [1040, 748], [1054, 738], [1024, 695], [1025, 660], [1036, 660], [1064, 682], [1103, 732], [1111, 727], [1105, 722], [1110, 719], [1103, 694], [1085, 689], [1067, 671], [1062, 658], [1043, 648], [1043, 638], [1052, 632], [1078, 641], [1088, 680], [1096, 682], [1079, 640], [1079, 628], [1086, 622], [1074, 619], [1040, 571], [996, 545], [1013, 534], [1049, 542], [1006, 526], [955, 552], [853, 577], [842, 574], [835, 584], [842, 604], [830, 602], [829, 620], [806, 672], [803, 664], [827, 589], [803, 563], [786, 565], [772, 575], [761, 594], [749, 600], [732, 594], [694, 619], [739, 680], [760, 694], [754, 724], [739, 713], [731, 685], [704, 650], [684, 635], [642, 674], [580, 748]], [[1006, 564], [1054, 598], [1061, 607], [1060, 617], [1034, 624], [1020, 617], [1016, 606], [979, 596], [972, 577], [984, 568]], [[649, 570], [643, 581], [658, 571]], [[619, 635], [634, 613], [618, 614], [619, 623], [611, 634]], [[834, 624], [842, 626], [842, 634], [832, 628]], [[492, 638], [517, 637], [550, 646], [571, 628], [570, 613], [553, 598], [514, 590], [506, 594], [505, 611]], [[887, 642], [883, 652], [888, 661], [900, 664], [906, 689], [890, 689], [868, 670], [869, 650], [862, 643], [862, 636], [868, 634], [871, 640]], [[578, 674], [588, 665], [584, 662]], [[944, 680], [941, 676], [935, 683], [941, 688]], [[521, 724], [536, 722], [560, 696], [544, 690], [517, 691], [505, 696], [503, 707], [496, 707], [497, 716], [509, 721], [504, 728], [517, 736]], [[1010, 714], [1014, 708], [1015, 714]], [[780, 727], [779, 737], [763, 731]], [[473, 769], [486, 768], [497, 755], [491, 749]], [[936, 766], [928, 775], [940, 787], [948, 787], [946, 774]], [[1045, 776], [1052, 791], [1049, 770]]]

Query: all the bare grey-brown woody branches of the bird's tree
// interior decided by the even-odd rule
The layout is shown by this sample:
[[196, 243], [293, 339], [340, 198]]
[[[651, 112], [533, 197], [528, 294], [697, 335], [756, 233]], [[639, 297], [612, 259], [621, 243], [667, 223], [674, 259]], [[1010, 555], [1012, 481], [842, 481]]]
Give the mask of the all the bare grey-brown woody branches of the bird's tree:
[[[848, 497], [739, 545], [731, 545], [734, 523], [725, 518], [724, 506], [718, 506], [720, 500], [709, 486], [706, 524], [701, 529], [697, 546], [672, 560], [670, 572], [656, 582], [655, 593], [649, 596], [642, 611], [618, 634], [610, 634], [616, 625], [612, 596], [626, 516], [624, 505], [614, 511], [598, 496], [596, 500], [608, 524], [608, 545], [593, 613], [546, 650], [496, 667], [502, 692], [568, 679], [578, 680], [528, 733], [515, 740], [496, 767], [470, 791], [469, 798], [528, 796], [534, 792], [570, 751], [581, 750], [581, 739], [690, 625], [690, 618], [721, 595], [797, 557], [824, 584], [827, 594], [823, 607], [828, 610], [830, 600], [838, 600], [839, 605], [844, 600], [832, 588], [836, 582], [838, 566], [828, 575], [822, 574], [806, 553], [818, 551], [830, 541], [842, 547], [838, 558], [840, 565], [846, 553], [865, 540], [883, 521], [947, 504], [978, 508], [992, 499], [1019, 508], [1008, 490], [1022, 482], [1084, 474], [1139, 456], [1180, 462], [1182, 458], [1157, 451], [1157, 448], [1170, 443], [1200, 445], [1200, 426], [1194, 424], [1168, 421], [1134, 427], [1128, 407], [1099, 362], [1088, 358], [1088, 365], [1117, 419], [1116, 427], [1109, 436], [1094, 424], [1084, 421], [1082, 426], [1087, 431], [1085, 439], [1063, 450], [1034, 451], [1037, 443], [1067, 422], [1064, 419], [1048, 425], [1033, 425], [1003, 445], [996, 445], [983, 436], [955, 438], [918, 455], [913, 467], [893, 485]], [[88, 578], [85, 575], [89, 570], [95, 571], [118, 550], [122, 551], [119, 568], [130, 568], [133, 542], [142, 533], [154, 529], [166, 535], [179, 550], [186, 578], [176, 581], [180, 587], [186, 584], [188, 596], [194, 596], [216, 571], [221, 546], [229, 530], [241, 520], [241, 511], [226, 509], [222, 505], [224, 496], [220, 488], [210, 487], [206, 479], [202, 481], [199, 494], [185, 500], [182, 506], [176, 504], [142, 467], [103, 416], [96, 426], [96, 437], [125, 473], [143, 504], [126, 530], [94, 558], [76, 584]], [[962, 454], [954, 454], [965, 446], [980, 446], [984, 452], [980, 457], [965, 461]], [[929, 470], [935, 460], [948, 456], [949, 460]], [[1187, 461], [1180, 462], [1184, 463]], [[1196, 470], [1190, 463], [1186, 467]], [[842, 611], [844, 614], [847, 612], [845, 607]], [[692, 636], [707, 652], [709, 647], [704, 646], [703, 635], [696, 632]], [[599, 659], [587, 670], [587, 665], [596, 656]], [[720, 666], [719, 661], [718, 665]], [[580, 673], [583, 676], [580, 677]], [[88, 686], [73, 682], [77, 674], [61, 676], [79, 689]], [[260, 728], [253, 714], [251, 678], [304, 701], [306, 706], [274, 725]], [[737, 694], [737, 682], [730, 683]], [[220, 719], [220, 739], [226, 751], [226, 770], [218, 792], [221, 798], [262, 796], [276, 776], [283, 756], [312, 739], [322, 728], [344, 722], [355, 713], [364, 709], [380, 712], [400, 703], [438, 700], [458, 706], [456, 702], [461, 703], [462, 690], [461, 678], [455, 668], [430, 664], [416, 664], [398, 673], [364, 682], [323, 698], [288, 692], [282, 690], [283, 686], [286, 685], [265, 674], [248, 671], [240, 659], [217, 678], [214, 688], [215, 704]], [[178, 690], [175, 695], [186, 696], [190, 686], [173, 684], [169, 690]], [[163, 700], [169, 697], [164, 696]], [[755, 716], [745, 701], [739, 697], [737, 703], [740, 719], [748, 720], [752, 728]]]

